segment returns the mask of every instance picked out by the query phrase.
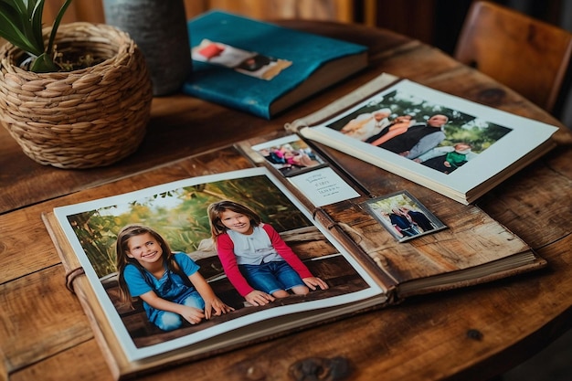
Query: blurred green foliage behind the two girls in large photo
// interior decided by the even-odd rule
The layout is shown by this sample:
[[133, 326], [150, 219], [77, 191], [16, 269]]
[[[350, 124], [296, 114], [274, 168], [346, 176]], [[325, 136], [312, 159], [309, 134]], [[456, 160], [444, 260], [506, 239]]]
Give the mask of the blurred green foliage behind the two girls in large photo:
[[192, 253], [211, 237], [207, 206], [230, 199], [256, 211], [277, 231], [302, 228], [312, 223], [266, 176], [224, 180], [174, 189], [69, 216], [79, 243], [98, 276], [115, 272], [115, 241], [120, 229], [142, 224], [157, 230], [171, 249]]

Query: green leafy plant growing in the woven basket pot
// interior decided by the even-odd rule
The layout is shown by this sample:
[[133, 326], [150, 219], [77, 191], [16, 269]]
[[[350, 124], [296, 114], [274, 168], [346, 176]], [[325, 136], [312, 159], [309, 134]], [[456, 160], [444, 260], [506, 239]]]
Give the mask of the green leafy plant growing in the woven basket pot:
[[59, 8], [46, 45], [42, 34], [45, 0], [0, 0], [0, 37], [21, 48], [30, 56], [28, 69], [38, 73], [58, 71], [54, 44], [61, 18], [71, 0]]

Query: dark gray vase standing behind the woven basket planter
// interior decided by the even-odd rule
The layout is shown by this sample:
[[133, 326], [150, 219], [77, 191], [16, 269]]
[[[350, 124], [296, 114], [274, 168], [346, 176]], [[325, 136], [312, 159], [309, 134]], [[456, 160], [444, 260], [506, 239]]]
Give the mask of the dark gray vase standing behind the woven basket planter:
[[183, 0], [103, 0], [105, 22], [143, 52], [156, 96], [181, 89], [192, 61]]

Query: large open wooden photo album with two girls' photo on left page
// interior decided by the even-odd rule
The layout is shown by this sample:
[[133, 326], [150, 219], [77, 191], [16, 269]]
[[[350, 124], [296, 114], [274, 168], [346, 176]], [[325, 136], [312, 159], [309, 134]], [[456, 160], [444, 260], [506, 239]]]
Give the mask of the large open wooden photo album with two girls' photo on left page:
[[[216, 153], [212, 160], [217, 175], [193, 176], [203, 174], [204, 168], [190, 169], [190, 177], [183, 180], [173, 175], [176, 181], [96, 199], [86, 190], [74, 196], [85, 202], [43, 214], [67, 271], [68, 287], [78, 296], [116, 378], [396, 305], [412, 295], [467, 287], [546, 266], [545, 259], [479, 207], [410, 186], [400, 176], [384, 176], [379, 168], [332, 151], [303, 142], [295, 134], [259, 137]], [[153, 176], [152, 172], [147, 175]], [[162, 173], [162, 179], [165, 176], [171, 175]], [[101, 191], [109, 194], [111, 189], [116, 185], [102, 185]], [[228, 251], [227, 255], [217, 252], [211, 237], [207, 209], [226, 200], [248, 206], [260, 218], [262, 225], [254, 219], [249, 224], [258, 226], [259, 234], [263, 229], [268, 238], [256, 236], [256, 240], [262, 239], [265, 245], [279, 242], [275, 246], [279, 255], [314, 290], [297, 293], [299, 284], [294, 283], [286, 297], [262, 305], [249, 302], [245, 296], [249, 290], [244, 291], [244, 280], [237, 278]], [[245, 224], [226, 225], [218, 216], [226, 227], [239, 230]], [[236, 215], [227, 217], [232, 220]], [[158, 319], [162, 312], [145, 304], [145, 293], [133, 291], [131, 299], [121, 298], [121, 286], [124, 289], [133, 273], [140, 278], [134, 290], [143, 286], [147, 292], [163, 292], [157, 281], [180, 286], [184, 279], [176, 268], [154, 275], [149, 275], [151, 270], [132, 268], [131, 275], [125, 275], [127, 266], [121, 263], [126, 257], [155, 262], [159, 255], [159, 250], [141, 249], [152, 239], [135, 239], [133, 244], [128, 242], [131, 257], [120, 249], [126, 257], [118, 260], [116, 241], [123, 237], [121, 229], [132, 224], [152, 228], [163, 237], [176, 253], [173, 258], [179, 269], [185, 274], [195, 270], [189, 277], [195, 286], [195, 274], [206, 280], [228, 307], [226, 313], [194, 324], [170, 314], [171, 326], [166, 329], [163, 318]], [[228, 237], [250, 242], [248, 232], [228, 233]], [[257, 245], [253, 246], [256, 252], [275, 254], [267, 246], [260, 251]], [[246, 280], [252, 269], [243, 269], [245, 264], [249, 263], [241, 263], [239, 269], [248, 270], [242, 275]], [[250, 281], [255, 280], [246, 280], [255, 290], [265, 287]]]

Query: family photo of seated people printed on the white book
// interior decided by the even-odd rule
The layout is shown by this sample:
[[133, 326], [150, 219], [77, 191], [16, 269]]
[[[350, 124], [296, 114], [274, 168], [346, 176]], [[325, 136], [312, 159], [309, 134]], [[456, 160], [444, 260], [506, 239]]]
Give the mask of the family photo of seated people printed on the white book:
[[371, 98], [327, 127], [446, 175], [511, 132], [399, 88]]

